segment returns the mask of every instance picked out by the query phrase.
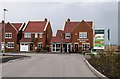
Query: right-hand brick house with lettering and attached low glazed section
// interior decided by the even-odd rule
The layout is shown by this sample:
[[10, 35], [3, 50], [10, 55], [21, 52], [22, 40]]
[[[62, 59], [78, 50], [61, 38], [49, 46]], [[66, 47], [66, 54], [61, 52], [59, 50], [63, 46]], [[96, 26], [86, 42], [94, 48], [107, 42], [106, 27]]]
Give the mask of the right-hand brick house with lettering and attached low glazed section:
[[92, 21], [82, 20], [81, 22], [74, 22], [67, 19], [63, 31], [61, 30], [60, 34], [58, 32], [51, 39], [52, 52], [77, 52], [80, 50], [89, 50], [93, 47]]

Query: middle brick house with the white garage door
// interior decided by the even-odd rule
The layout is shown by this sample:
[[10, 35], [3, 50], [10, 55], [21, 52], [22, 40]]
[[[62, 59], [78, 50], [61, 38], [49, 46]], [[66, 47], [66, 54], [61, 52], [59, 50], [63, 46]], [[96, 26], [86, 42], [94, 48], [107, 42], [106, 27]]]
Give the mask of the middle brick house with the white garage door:
[[22, 30], [20, 40], [20, 51], [35, 51], [50, 49], [52, 28], [50, 21], [46, 18], [43, 21], [28, 21]]

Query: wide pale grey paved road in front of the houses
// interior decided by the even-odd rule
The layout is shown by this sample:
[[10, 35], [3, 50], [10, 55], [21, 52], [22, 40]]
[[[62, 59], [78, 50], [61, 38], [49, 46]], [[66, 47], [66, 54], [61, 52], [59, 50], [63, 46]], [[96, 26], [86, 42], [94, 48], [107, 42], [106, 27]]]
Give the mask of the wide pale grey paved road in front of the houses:
[[3, 77], [95, 77], [79, 54], [29, 54], [2, 65]]

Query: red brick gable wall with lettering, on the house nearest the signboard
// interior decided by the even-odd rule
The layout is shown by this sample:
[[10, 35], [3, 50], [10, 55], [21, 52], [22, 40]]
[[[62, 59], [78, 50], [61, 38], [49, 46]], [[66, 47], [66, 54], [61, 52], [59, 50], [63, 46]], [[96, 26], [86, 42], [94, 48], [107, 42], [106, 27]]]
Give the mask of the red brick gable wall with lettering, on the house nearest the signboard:
[[[85, 22], [80, 23], [72, 32], [72, 43], [78, 42], [79, 45], [82, 45], [82, 42], [78, 41], [79, 38], [79, 32], [87, 32], [87, 38], [88, 39], [85, 43], [90, 43], [90, 47], [93, 47], [93, 30], [90, 26], [86, 25]], [[77, 34], [77, 35], [75, 35]], [[83, 39], [83, 38], [81, 38]]]

